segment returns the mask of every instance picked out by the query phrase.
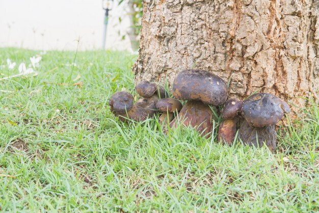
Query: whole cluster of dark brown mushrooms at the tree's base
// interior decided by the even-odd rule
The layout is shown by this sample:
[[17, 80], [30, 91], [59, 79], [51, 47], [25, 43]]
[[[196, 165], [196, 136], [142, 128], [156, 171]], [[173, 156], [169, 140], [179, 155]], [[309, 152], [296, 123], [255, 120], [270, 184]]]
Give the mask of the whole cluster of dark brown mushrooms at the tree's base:
[[[241, 101], [228, 99], [227, 85], [220, 77], [202, 69], [187, 69], [178, 73], [173, 85], [174, 98], [157, 83], [143, 81], [136, 86], [141, 97], [134, 104], [134, 97], [125, 91], [115, 92], [109, 101], [111, 111], [123, 122], [144, 121], [156, 112], [158, 120], [170, 128], [191, 126], [202, 136], [212, 132], [211, 107], [223, 105], [222, 119], [217, 140], [231, 145], [236, 132], [250, 146], [267, 145], [276, 149], [275, 124], [290, 112], [282, 99], [269, 93], [256, 93]], [[179, 100], [187, 101], [183, 106]]]

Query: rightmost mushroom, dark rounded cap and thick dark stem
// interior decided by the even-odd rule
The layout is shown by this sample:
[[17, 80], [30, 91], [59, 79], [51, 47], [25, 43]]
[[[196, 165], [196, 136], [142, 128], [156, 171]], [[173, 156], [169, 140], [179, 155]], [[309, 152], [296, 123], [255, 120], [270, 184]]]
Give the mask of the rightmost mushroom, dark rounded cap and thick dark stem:
[[244, 101], [242, 115], [245, 119], [239, 129], [239, 136], [245, 144], [263, 146], [271, 150], [277, 146], [277, 124], [290, 109], [286, 102], [269, 93], [256, 93]]

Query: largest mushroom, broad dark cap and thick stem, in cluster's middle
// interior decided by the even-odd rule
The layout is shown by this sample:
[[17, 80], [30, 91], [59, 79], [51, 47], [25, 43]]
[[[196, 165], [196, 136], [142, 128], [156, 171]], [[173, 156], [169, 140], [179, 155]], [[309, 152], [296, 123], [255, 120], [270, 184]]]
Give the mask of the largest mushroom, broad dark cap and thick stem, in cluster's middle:
[[178, 119], [171, 122], [176, 127], [180, 121], [191, 125], [207, 137], [211, 134], [212, 112], [208, 106], [218, 106], [227, 100], [227, 86], [220, 77], [202, 69], [187, 69], [174, 79], [173, 96], [176, 99], [188, 100], [178, 114]]

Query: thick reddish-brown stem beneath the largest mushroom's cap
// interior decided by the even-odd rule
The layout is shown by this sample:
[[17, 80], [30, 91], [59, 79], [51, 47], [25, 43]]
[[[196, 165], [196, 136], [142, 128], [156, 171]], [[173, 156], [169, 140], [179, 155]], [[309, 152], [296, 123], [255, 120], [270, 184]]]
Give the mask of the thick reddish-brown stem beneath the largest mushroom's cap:
[[194, 127], [201, 135], [209, 137], [212, 130], [212, 112], [208, 105], [200, 101], [188, 101], [178, 113], [178, 117], [170, 123], [171, 128], [176, 128], [179, 122], [183, 126]]

